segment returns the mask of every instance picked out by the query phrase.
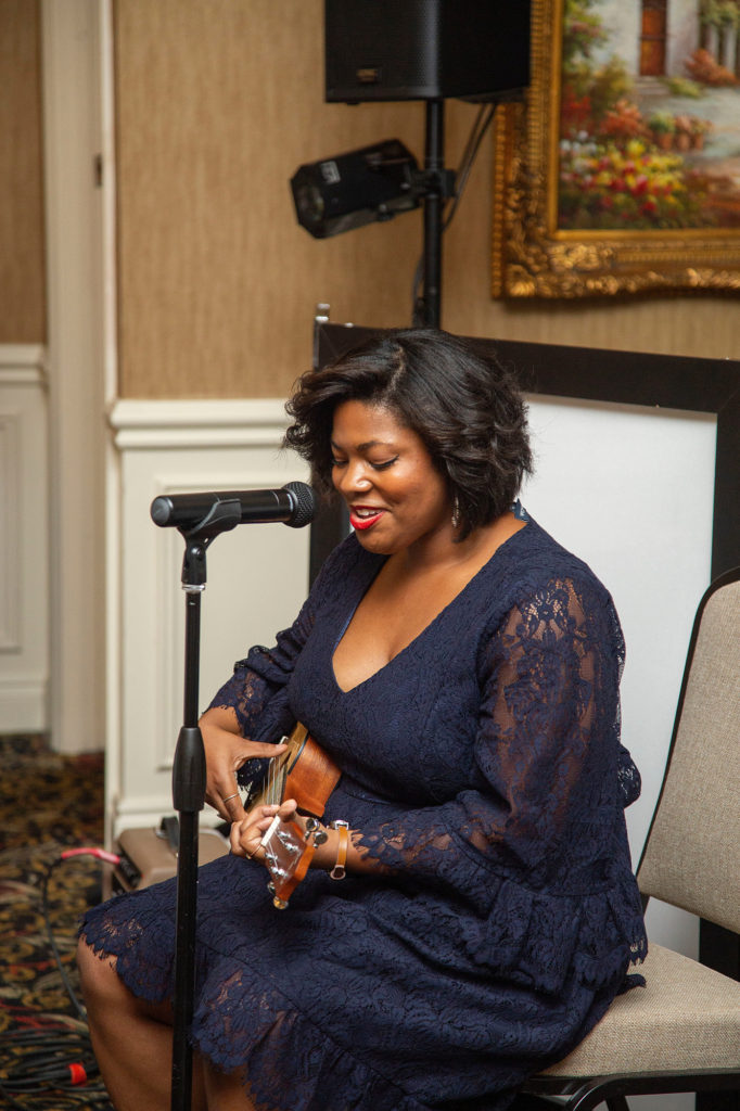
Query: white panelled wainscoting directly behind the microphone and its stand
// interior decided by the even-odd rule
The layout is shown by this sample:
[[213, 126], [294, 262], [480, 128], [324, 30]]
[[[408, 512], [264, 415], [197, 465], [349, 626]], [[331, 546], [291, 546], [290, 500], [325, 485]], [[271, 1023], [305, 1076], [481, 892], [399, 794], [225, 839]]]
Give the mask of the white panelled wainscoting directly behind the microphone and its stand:
[[[184, 542], [158, 528], [159, 494], [268, 489], [306, 480], [280, 443], [280, 401], [121, 401], [109, 499], [108, 835], [173, 812], [172, 755], [182, 724]], [[308, 590], [309, 529], [240, 526], [207, 554], [201, 600], [200, 707], [254, 643], [272, 643]], [[203, 820], [216, 819], [207, 809]]]

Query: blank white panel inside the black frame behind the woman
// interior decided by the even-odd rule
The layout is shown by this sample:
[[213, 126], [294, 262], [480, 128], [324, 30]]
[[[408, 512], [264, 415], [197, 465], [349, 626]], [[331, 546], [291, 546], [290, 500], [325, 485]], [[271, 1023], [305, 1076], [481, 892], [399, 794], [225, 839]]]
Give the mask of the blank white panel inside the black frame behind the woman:
[[[697, 605], [709, 585], [717, 421], [531, 398], [536, 473], [522, 501], [611, 591], [627, 641], [622, 740], [642, 775], [634, 863], [658, 799]], [[696, 957], [693, 915], [652, 902], [650, 937]]]

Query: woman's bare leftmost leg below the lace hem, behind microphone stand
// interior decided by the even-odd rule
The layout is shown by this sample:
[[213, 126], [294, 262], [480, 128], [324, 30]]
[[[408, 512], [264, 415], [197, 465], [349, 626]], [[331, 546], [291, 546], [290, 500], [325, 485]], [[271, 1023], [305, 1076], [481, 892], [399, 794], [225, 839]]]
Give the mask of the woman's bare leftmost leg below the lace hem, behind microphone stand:
[[[80, 941], [78, 967], [96, 1060], [117, 1111], [169, 1111], [172, 1013], [169, 1003], [146, 1003]], [[206, 1111], [202, 1067], [193, 1057], [193, 1111]]]

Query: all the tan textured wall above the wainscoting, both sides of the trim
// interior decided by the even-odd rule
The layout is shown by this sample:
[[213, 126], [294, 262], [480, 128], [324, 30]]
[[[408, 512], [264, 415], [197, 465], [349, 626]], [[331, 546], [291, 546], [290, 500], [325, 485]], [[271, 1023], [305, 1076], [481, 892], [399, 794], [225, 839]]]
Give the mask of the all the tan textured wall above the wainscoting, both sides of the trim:
[[[313, 240], [288, 179], [398, 136], [423, 156], [419, 103], [326, 104], [321, 0], [116, 0], [122, 397], [270, 397], [310, 359], [313, 307], [404, 324], [418, 213]], [[44, 339], [37, 0], [0, 0], [0, 342]], [[474, 108], [450, 102], [456, 166]], [[717, 294], [490, 298], [490, 139], [444, 243], [442, 323], [504, 339], [740, 354]]]

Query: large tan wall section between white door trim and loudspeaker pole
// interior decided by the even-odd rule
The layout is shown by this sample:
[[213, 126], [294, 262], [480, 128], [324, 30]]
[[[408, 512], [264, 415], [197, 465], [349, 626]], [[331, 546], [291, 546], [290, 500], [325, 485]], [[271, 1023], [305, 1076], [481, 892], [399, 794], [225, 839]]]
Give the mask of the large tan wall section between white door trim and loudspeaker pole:
[[334, 319], [408, 319], [418, 213], [324, 242], [299, 164], [399, 134], [419, 104], [326, 106], [320, 0], [117, 0], [124, 397], [274, 397]]

